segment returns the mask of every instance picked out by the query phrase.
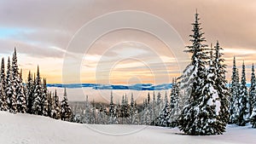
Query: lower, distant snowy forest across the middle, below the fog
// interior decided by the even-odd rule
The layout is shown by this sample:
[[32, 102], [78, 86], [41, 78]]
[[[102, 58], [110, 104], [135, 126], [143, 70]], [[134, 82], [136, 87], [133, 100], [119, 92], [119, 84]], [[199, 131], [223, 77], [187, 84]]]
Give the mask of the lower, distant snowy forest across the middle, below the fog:
[[[128, 98], [130, 97], [130, 98]], [[180, 109], [179, 91], [176, 80], [173, 80], [170, 95], [164, 100], [160, 92], [148, 96], [143, 101], [143, 107], [137, 106], [133, 94], [123, 95], [122, 100], [113, 103], [113, 92], [110, 94], [108, 106], [97, 105], [94, 101], [86, 101], [84, 107], [73, 106], [73, 122], [81, 124], [148, 124], [155, 126], [175, 127]], [[128, 101], [128, 99], [130, 101]]]

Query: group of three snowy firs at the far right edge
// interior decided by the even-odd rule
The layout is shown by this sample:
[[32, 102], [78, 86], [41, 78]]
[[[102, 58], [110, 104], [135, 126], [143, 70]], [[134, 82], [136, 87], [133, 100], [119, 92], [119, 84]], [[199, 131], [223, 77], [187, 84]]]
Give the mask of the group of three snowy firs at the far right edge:
[[240, 81], [235, 56], [230, 82], [230, 94], [229, 124], [244, 126], [251, 121], [253, 128], [256, 128], [256, 81], [254, 66], [252, 65], [251, 83], [248, 88], [244, 61], [241, 65]]

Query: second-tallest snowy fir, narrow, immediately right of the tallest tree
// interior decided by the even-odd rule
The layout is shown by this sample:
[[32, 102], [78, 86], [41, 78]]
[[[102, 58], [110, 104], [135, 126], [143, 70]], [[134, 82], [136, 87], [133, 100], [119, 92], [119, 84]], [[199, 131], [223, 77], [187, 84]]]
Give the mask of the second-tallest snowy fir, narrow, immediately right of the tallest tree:
[[[226, 72], [226, 65], [224, 65], [224, 58], [223, 53], [220, 52], [223, 50], [217, 41], [216, 46], [214, 46], [214, 55], [212, 60], [212, 66], [215, 68], [215, 84], [214, 89], [218, 92], [220, 105], [220, 112], [219, 117], [225, 125], [229, 122], [230, 113], [229, 113], [229, 89], [227, 88], [226, 84], [228, 83], [225, 79], [225, 72]], [[225, 129], [225, 128], [223, 128]]]

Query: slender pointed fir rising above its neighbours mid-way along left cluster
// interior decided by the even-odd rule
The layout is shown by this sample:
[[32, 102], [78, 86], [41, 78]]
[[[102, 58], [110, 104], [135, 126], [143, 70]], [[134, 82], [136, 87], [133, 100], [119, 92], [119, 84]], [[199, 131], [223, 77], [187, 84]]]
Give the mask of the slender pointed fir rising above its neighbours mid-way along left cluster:
[[34, 86], [34, 92], [33, 92], [33, 98], [32, 101], [32, 113], [36, 115], [43, 115], [42, 112], [42, 83], [40, 78], [40, 72], [39, 72], [39, 66], [38, 66], [38, 72], [37, 72], [37, 78], [35, 81]]

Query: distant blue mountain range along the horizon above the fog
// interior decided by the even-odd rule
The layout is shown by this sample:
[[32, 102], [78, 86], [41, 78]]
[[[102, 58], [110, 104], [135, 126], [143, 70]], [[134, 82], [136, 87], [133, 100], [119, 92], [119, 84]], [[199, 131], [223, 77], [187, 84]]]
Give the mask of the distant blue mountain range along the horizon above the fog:
[[163, 90], [172, 89], [172, 84], [131, 84], [131, 85], [112, 85], [112, 84], [47, 84], [48, 87], [57, 88], [91, 88], [91, 89], [132, 89], [132, 90]]

